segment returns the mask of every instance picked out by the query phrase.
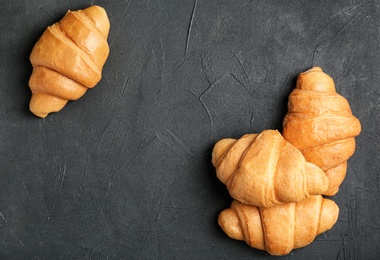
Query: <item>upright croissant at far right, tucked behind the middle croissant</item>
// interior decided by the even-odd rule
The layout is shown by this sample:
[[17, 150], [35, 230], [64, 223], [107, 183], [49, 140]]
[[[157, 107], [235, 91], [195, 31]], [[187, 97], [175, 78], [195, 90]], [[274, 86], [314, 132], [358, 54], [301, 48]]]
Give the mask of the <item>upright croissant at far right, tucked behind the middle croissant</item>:
[[283, 121], [283, 136], [329, 178], [324, 195], [335, 195], [346, 176], [361, 125], [348, 101], [337, 94], [333, 79], [313, 67], [298, 76]]

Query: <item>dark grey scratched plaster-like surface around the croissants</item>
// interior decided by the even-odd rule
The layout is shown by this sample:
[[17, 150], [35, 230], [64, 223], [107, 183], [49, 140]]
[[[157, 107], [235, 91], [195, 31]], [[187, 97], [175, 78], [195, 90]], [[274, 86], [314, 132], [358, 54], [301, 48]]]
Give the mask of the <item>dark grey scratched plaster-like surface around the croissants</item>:
[[[32, 47], [91, 4], [111, 22], [103, 78], [39, 119]], [[1, 1], [0, 258], [273, 258], [218, 227], [231, 199], [211, 150], [281, 131], [297, 74], [318, 65], [363, 130], [336, 225], [276, 259], [377, 259], [379, 18], [378, 1]]]

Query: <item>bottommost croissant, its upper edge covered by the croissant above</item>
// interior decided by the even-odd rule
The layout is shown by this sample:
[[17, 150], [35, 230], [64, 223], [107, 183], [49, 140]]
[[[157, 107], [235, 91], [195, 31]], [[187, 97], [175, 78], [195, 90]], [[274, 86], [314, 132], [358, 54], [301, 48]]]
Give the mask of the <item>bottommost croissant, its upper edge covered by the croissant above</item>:
[[233, 239], [244, 240], [249, 246], [271, 255], [285, 255], [307, 246], [317, 235], [331, 229], [338, 215], [335, 202], [321, 195], [271, 208], [235, 200], [219, 214], [218, 223]]

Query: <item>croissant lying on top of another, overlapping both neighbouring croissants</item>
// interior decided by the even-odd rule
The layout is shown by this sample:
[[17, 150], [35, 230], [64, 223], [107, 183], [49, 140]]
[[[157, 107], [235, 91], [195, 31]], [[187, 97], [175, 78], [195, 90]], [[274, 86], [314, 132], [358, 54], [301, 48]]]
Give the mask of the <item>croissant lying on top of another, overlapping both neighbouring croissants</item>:
[[271, 207], [325, 192], [328, 178], [277, 130], [222, 139], [212, 151], [218, 179], [245, 204]]

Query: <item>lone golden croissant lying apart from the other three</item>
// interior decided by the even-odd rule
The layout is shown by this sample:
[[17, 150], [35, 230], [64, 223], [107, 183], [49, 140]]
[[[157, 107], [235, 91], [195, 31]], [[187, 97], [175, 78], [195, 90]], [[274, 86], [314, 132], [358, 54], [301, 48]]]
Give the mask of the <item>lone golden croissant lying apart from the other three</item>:
[[109, 29], [106, 11], [91, 6], [68, 11], [45, 30], [30, 54], [32, 113], [44, 118], [58, 112], [100, 81], [109, 54]]

